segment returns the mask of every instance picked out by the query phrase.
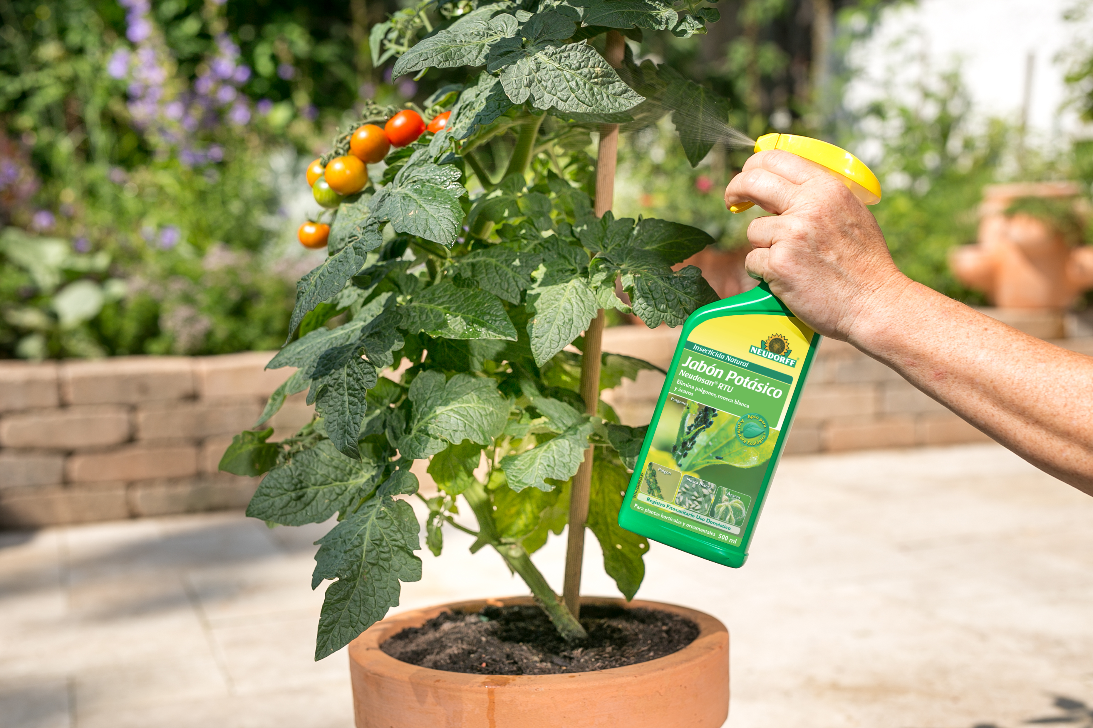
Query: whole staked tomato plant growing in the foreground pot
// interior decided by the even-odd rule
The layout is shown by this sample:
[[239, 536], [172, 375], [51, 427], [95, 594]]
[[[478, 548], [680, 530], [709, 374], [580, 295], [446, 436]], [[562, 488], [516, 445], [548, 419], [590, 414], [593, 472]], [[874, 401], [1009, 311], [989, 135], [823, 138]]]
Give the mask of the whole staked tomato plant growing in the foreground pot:
[[[401, 498], [418, 491], [418, 460], [439, 488], [419, 496], [430, 550], [442, 552], [446, 529], [470, 530], [525, 580], [564, 639], [585, 635], [579, 570], [567, 570], [560, 599], [531, 560], [552, 534], [569, 524], [579, 539], [587, 527], [622, 594], [637, 590], [648, 542], [616, 514], [646, 428], [621, 425], [599, 392], [656, 367], [602, 353], [603, 310], [682, 324], [717, 296], [698, 268], [673, 266], [713, 239], [670, 220], [615, 219], [611, 184], [595, 199], [586, 191], [597, 169], [585, 150], [593, 131], [608, 139], [620, 123], [642, 129], [674, 109], [692, 164], [709, 152], [705, 130], [725, 123], [728, 103], [672, 69], [634, 64], [621, 34], [702, 32], [716, 20], [702, 4], [528, 0], [514, 10], [472, 0], [473, 12], [440, 27], [403, 15], [373, 28], [375, 63], [398, 56], [395, 76], [467, 67], [466, 82], [425, 102], [430, 114], [450, 114], [424, 140], [416, 110], [364, 103], [353, 129], [385, 124], [401, 148], [380, 179], [333, 202], [327, 258], [297, 284], [292, 336], [269, 365], [295, 372], [260, 423], [305, 390], [316, 419], [280, 442], [268, 441], [271, 430], [244, 432], [222, 461], [240, 475], [267, 473], [254, 517], [338, 516], [313, 575], [331, 582], [317, 659], [383, 619], [400, 582], [421, 578], [420, 524]], [[327, 169], [356, 133], [334, 140]], [[609, 181], [613, 150], [602, 145], [596, 160]], [[322, 186], [337, 194], [322, 178], [317, 200]], [[457, 502], [477, 528], [456, 524]]]

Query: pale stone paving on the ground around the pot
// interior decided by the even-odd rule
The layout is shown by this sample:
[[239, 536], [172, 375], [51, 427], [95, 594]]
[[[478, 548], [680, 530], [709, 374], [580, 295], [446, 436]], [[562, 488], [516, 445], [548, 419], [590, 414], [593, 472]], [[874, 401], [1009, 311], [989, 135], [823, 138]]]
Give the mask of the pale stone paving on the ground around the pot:
[[[728, 624], [731, 728], [1088, 727], [1091, 522], [1093, 498], [996, 445], [789, 457], [747, 566], [654, 545], [639, 596]], [[0, 727], [350, 728], [344, 652], [310, 658], [322, 530], [0, 533]], [[585, 592], [613, 594], [590, 544]], [[423, 551], [401, 608], [522, 592], [467, 545]], [[537, 554], [555, 584], [563, 548]]]

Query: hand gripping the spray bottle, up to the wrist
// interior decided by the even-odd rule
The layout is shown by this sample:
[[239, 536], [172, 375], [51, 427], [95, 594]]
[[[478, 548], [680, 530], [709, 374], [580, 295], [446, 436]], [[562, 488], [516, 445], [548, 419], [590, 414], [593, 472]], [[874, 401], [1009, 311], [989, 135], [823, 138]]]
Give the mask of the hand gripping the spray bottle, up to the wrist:
[[866, 205], [825, 168], [760, 152], [725, 189], [726, 206], [747, 200], [775, 216], [748, 227], [744, 268], [824, 336], [851, 338], [866, 314], [896, 305], [912, 285]]

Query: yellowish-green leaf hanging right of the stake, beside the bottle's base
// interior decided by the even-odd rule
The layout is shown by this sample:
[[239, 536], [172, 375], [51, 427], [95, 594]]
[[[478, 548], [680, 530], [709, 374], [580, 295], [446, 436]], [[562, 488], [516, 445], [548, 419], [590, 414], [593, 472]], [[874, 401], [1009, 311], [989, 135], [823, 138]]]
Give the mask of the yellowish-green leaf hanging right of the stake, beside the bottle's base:
[[[598, 453], [599, 454], [599, 453]], [[645, 578], [649, 542], [619, 525], [619, 510], [630, 475], [612, 457], [597, 457], [588, 498], [588, 527], [603, 550], [603, 570], [630, 601]]]

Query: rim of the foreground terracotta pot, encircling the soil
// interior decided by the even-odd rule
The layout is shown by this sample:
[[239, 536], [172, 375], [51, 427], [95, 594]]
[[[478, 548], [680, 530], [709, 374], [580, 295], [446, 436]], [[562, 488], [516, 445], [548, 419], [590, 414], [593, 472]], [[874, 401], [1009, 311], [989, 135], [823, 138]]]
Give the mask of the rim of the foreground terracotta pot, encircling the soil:
[[691, 620], [698, 626], [698, 636], [685, 647], [656, 659], [603, 670], [561, 675], [481, 675], [477, 672], [436, 670], [403, 663], [380, 649], [380, 645], [384, 642], [402, 630], [421, 626], [426, 621], [446, 611], [470, 613], [477, 612], [486, 606], [534, 605], [534, 600], [530, 596], [504, 597], [500, 599], [468, 599], [463, 601], [450, 601], [424, 609], [413, 609], [387, 617], [383, 621], [373, 624], [361, 636], [350, 643], [350, 663], [354, 667], [363, 668], [367, 672], [379, 672], [395, 680], [401, 679], [415, 683], [431, 683], [436, 687], [445, 683], [449, 688], [492, 689], [504, 685], [508, 689], [528, 688], [543, 690], [562, 684], [573, 685], [574, 681], [614, 683], [631, 680], [638, 675], [648, 675], [650, 671], [674, 671], [684, 668], [691, 663], [706, 659], [710, 652], [727, 652], [728, 649], [729, 631], [725, 624], [715, 617], [695, 609], [644, 599], [626, 601], [618, 597], [585, 596], [580, 598], [580, 602], [586, 606], [613, 606], [626, 609], [644, 608], [679, 614]]

